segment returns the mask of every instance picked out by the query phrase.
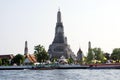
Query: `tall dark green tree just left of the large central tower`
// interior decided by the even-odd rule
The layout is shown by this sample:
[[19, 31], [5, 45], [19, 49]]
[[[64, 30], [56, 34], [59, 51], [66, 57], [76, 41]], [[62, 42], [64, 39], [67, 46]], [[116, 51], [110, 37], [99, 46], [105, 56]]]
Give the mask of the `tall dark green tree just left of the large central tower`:
[[43, 46], [37, 45], [37, 46], [35, 46], [34, 49], [35, 49], [34, 54], [35, 54], [38, 62], [40, 62], [40, 63], [45, 62], [46, 60], [49, 59], [49, 55]]

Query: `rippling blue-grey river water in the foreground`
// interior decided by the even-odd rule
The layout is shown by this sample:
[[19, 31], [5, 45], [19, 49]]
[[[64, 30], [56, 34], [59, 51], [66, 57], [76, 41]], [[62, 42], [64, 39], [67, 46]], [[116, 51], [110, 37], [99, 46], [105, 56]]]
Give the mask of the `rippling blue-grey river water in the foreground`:
[[0, 70], [0, 80], [120, 80], [120, 70]]

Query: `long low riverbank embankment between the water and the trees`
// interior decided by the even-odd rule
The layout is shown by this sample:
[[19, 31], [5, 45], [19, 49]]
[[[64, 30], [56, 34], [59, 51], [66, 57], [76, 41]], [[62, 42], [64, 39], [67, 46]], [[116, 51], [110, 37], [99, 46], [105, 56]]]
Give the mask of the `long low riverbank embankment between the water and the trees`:
[[0, 66], [0, 70], [52, 70], [52, 69], [120, 69], [120, 64], [94, 64], [94, 65], [38, 65], [38, 66]]

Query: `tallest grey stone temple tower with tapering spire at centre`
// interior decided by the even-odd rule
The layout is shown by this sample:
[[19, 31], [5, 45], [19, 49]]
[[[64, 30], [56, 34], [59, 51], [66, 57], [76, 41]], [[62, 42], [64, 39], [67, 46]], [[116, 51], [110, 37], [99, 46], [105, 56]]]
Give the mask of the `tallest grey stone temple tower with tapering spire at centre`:
[[57, 23], [55, 28], [55, 37], [52, 44], [49, 46], [48, 53], [50, 58], [57, 58], [64, 56], [65, 58], [76, 59], [74, 53], [67, 44], [67, 37], [64, 36], [64, 27], [61, 21], [61, 12], [57, 12]]

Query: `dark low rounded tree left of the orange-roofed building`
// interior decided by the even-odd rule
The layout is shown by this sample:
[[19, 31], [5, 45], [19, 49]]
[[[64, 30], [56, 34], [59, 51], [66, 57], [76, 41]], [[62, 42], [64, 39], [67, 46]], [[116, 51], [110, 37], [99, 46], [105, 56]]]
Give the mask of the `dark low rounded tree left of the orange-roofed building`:
[[13, 59], [12, 59], [12, 64], [16, 63], [17, 65], [23, 64], [25, 60], [25, 57], [21, 54], [17, 54]]

